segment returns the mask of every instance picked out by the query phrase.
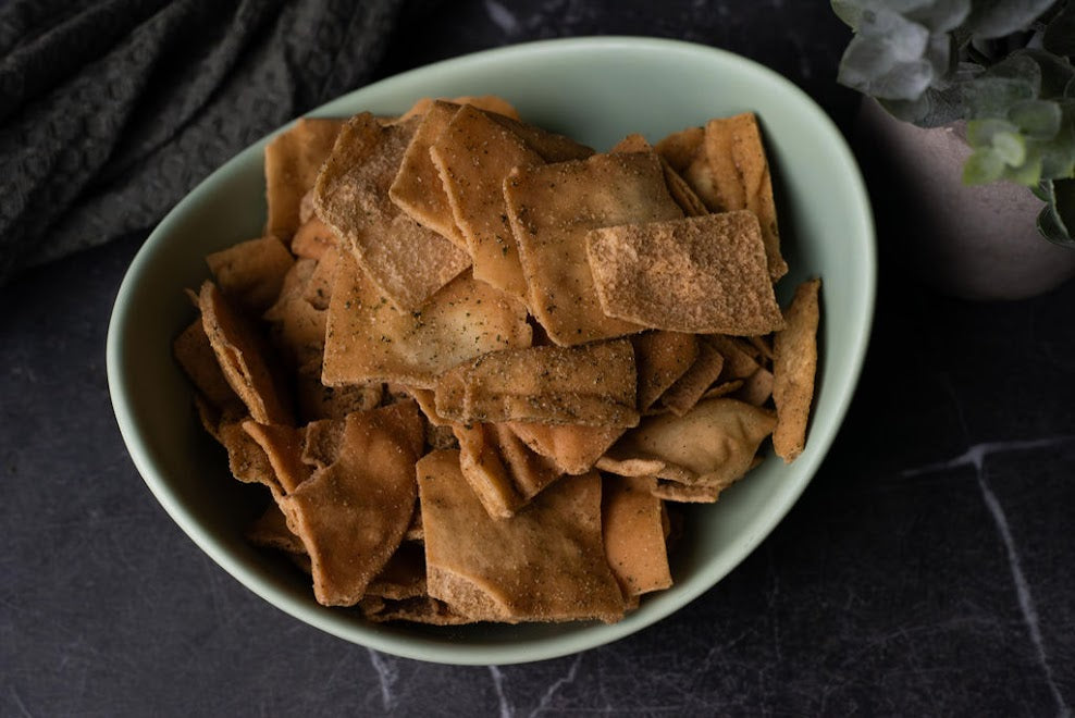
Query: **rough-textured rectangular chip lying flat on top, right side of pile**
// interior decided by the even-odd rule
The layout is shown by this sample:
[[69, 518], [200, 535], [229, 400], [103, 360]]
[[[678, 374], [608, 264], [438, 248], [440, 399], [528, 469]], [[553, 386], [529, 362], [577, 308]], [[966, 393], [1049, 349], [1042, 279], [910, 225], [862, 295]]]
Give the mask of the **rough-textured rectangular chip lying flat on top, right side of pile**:
[[610, 317], [705, 334], [765, 334], [783, 325], [749, 211], [594, 230], [586, 247]]

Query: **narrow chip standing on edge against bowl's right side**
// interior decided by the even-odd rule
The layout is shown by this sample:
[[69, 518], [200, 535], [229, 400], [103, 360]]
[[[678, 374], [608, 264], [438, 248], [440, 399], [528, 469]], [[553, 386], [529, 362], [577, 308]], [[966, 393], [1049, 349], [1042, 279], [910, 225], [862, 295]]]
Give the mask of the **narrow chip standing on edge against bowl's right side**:
[[817, 371], [820, 315], [817, 295], [820, 286], [820, 280], [799, 285], [787, 311], [788, 329], [777, 332], [774, 342], [773, 399], [777, 405], [777, 428], [773, 433], [773, 448], [788, 462], [802, 454], [806, 443], [806, 423]]

